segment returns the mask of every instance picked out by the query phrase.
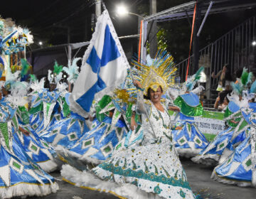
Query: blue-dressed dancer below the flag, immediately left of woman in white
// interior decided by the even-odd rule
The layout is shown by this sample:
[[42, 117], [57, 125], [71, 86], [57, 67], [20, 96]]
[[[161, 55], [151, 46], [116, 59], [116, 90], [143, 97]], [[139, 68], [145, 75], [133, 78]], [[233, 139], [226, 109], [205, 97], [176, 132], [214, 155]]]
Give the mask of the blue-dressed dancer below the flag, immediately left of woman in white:
[[129, 131], [127, 107], [126, 103], [117, 102], [113, 97], [102, 97], [96, 104], [97, 118], [92, 123], [92, 129], [70, 147], [67, 153], [87, 163], [99, 164], [109, 158], [115, 146]]

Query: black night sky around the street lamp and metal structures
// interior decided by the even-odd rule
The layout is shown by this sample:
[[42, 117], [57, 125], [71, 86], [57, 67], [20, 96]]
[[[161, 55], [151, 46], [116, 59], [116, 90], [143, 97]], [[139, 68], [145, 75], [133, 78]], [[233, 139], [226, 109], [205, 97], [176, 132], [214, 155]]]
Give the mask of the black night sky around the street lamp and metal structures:
[[[162, 11], [189, 1], [158, 0], [157, 9]], [[39, 41], [43, 41], [44, 47], [67, 43], [68, 28], [70, 28], [70, 43], [90, 41], [92, 36], [91, 16], [95, 13], [93, 2], [92, 0], [4, 1], [0, 6], [0, 15], [2, 18], [13, 18], [17, 24], [29, 28], [35, 42], [32, 49], [36, 49], [39, 48]], [[115, 13], [115, 8], [120, 3], [129, 6], [129, 11], [146, 16], [149, 15], [149, 0], [105, 0], [105, 5], [110, 13], [117, 35], [137, 34], [137, 16], [129, 15], [125, 18], [119, 18]], [[215, 39], [229, 31], [230, 28], [234, 28], [254, 15], [255, 9], [208, 16], [201, 33], [201, 48], [215, 41]], [[169, 23], [168, 31], [169, 33], [173, 32], [174, 38], [177, 37], [178, 40], [181, 35], [186, 37], [183, 40], [184, 43], [174, 43], [174, 45], [186, 45], [186, 48], [188, 48], [191, 33], [188, 29], [187, 19], [165, 23]], [[162, 24], [159, 23], [159, 26]], [[183, 29], [181, 28], [181, 32], [174, 33], [176, 27], [180, 28], [180, 26], [184, 26]], [[175, 54], [176, 52], [172, 53]], [[184, 55], [185, 57], [188, 55], [188, 53], [183, 54], [186, 54]]]

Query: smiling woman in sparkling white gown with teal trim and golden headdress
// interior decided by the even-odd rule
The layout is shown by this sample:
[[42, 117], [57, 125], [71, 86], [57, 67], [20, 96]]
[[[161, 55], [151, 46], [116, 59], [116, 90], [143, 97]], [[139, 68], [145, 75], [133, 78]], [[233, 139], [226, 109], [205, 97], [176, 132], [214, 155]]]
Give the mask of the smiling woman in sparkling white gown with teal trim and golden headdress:
[[[159, 54], [151, 66], [140, 65], [142, 75], [135, 77], [144, 138], [127, 147], [117, 144], [111, 158], [92, 168], [95, 175], [63, 166], [65, 179], [126, 198], [196, 198], [174, 148], [171, 119], [161, 103], [161, 95], [174, 77], [172, 60], [171, 55]], [[149, 99], [144, 101], [143, 94]]]

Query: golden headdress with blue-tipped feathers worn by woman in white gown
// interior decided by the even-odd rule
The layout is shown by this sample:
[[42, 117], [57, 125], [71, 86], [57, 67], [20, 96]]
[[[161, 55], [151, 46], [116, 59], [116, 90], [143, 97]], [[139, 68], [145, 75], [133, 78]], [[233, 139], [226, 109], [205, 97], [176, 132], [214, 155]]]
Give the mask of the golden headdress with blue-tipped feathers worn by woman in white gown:
[[176, 66], [174, 58], [166, 53], [166, 51], [159, 50], [156, 57], [151, 59], [149, 55], [146, 58], [146, 65], [132, 60], [132, 73], [134, 78], [142, 83], [144, 88], [144, 95], [147, 95], [149, 88], [156, 91], [161, 86], [163, 93], [174, 85], [176, 77]]

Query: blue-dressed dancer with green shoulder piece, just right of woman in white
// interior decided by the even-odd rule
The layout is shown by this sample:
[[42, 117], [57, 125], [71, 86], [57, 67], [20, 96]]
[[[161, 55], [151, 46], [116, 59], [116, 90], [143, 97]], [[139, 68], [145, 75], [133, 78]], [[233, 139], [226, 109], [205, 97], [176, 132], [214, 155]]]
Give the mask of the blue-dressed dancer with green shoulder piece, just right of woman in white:
[[[180, 109], [177, 116], [181, 119], [181, 124], [174, 123], [174, 130], [172, 131], [174, 143], [179, 156], [191, 158], [196, 156], [202, 149], [204, 149], [208, 141], [206, 137], [193, 122], [193, 117], [200, 117], [203, 114], [203, 106], [199, 100], [198, 94], [204, 88], [202, 86], [196, 87], [196, 83], [200, 80], [200, 68], [195, 75], [184, 82], [181, 90], [169, 90], [169, 96], [174, 98], [174, 104]], [[177, 95], [178, 96], [175, 96]]]

